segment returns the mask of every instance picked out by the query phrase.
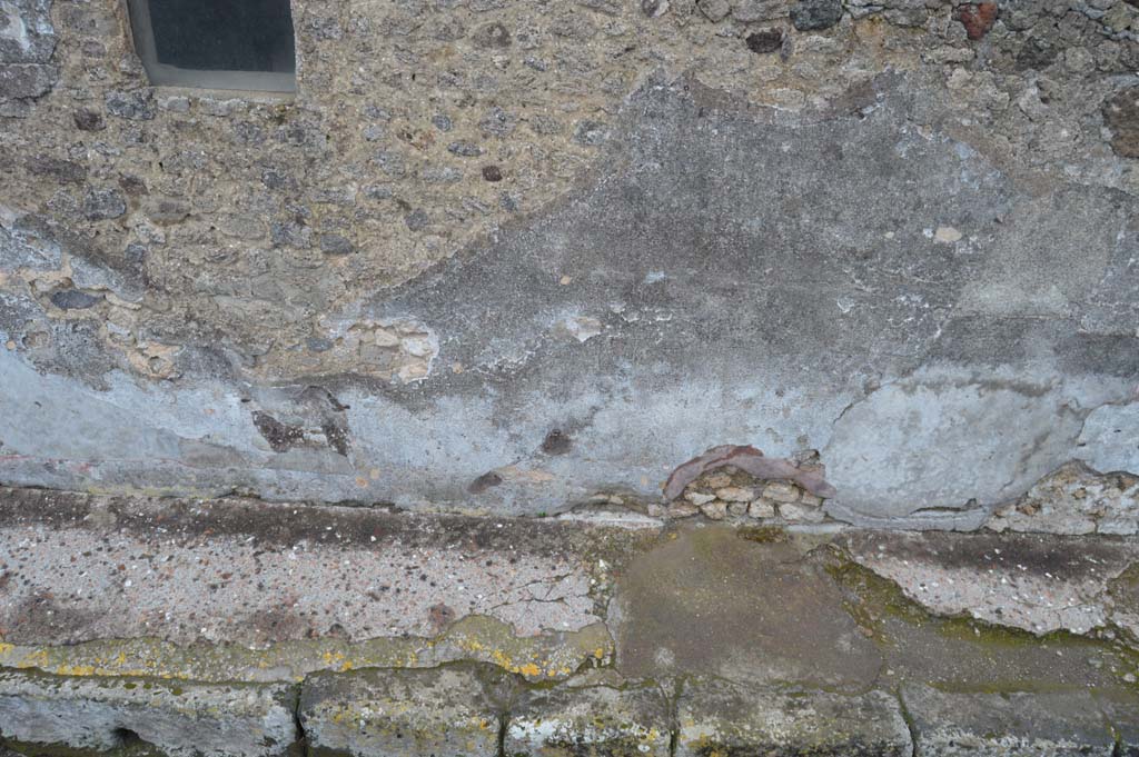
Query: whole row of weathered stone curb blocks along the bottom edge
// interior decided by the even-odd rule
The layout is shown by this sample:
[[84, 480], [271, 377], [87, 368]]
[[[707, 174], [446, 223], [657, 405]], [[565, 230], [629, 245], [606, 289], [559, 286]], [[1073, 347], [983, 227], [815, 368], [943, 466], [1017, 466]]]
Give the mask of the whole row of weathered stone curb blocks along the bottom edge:
[[[604, 681], [604, 683], [603, 683]], [[199, 684], [0, 670], [0, 755], [1139, 755], [1134, 691], [837, 694], [686, 680], [525, 683], [493, 665]]]

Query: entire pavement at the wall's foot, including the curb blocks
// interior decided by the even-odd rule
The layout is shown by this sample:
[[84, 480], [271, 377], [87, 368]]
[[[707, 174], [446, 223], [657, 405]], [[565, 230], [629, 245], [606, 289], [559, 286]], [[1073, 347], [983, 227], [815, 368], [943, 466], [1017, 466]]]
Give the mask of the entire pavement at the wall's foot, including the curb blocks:
[[1129, 755], [1137, 675], [1126, 537], [0, 489], [16, 754]]

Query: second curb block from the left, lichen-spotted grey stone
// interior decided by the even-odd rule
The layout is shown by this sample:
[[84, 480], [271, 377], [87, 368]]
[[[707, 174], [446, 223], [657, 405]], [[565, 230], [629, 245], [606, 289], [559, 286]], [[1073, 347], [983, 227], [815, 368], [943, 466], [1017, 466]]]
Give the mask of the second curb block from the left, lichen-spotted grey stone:
[[301, 726], [313, 755], [494, 755], [505, 702], [493, 676], [469, 666], [312, 676]]

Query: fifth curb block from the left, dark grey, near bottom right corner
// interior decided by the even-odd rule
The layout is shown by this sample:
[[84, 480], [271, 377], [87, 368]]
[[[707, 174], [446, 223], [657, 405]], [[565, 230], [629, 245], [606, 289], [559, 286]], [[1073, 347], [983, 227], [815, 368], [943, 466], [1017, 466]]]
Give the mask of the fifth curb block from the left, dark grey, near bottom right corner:
[[902, 690], [917, 757], [1113, 755], [1112, 730], [1085, 691], [956, 693]]

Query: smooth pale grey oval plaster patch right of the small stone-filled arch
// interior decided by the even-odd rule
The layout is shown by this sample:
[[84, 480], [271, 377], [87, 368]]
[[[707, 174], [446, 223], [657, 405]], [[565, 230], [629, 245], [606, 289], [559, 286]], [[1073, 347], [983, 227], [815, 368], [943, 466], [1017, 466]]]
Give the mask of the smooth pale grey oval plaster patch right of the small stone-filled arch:
[[1081, 429], [1064, 394], [969, 373], [925, 372], [847, 409], [823, 450], [839, 492], [831, 507], [877, 518], [968, 510], [969, 500], [999, 502], [1055, 468]]

